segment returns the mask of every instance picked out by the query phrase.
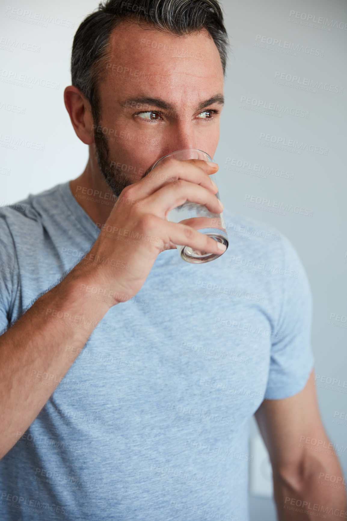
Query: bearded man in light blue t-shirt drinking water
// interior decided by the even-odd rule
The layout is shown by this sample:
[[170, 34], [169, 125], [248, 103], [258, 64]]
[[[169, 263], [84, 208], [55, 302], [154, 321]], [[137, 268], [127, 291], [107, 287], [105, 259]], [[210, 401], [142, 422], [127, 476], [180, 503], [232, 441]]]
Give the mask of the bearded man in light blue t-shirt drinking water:
[[213, 157], [226, 45], [215, 0], [109, 0], [75, 35], [65, 104], [88, 164], [1, 212], [5, 521], [245, 521], [253, 413], [279, 518], [345, 516], [343, 491], [319, 484], [342, 474], [293, 247], [225, 212], [228, 250], [183, 262], [175, 244], [222, 253], [166, 220], [186, 200], [221, 212], [218, 167], [150, 171], [183, 148]]

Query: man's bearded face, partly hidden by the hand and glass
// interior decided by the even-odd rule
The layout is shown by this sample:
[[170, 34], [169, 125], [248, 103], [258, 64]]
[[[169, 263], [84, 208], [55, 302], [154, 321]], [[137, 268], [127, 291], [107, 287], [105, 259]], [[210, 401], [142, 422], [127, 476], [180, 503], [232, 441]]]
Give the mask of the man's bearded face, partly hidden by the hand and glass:
[[94, 121], [98, 165], [118, 196], [160, 157], [200, 148], [213, 157], [219, 139], [223, 73], [206, 30], [175, 36], [121, 22], [98, 82]]

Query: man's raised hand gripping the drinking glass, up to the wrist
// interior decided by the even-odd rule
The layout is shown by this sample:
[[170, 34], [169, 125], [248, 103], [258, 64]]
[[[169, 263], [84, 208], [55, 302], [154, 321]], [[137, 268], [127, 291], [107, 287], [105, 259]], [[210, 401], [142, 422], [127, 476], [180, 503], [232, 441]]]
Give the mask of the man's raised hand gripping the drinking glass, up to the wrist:
[[[182, 244], [210, 253], [225, 251], [225, 246], [207, 235], [167, 220], [170, 210], [187, 200], [205, 205], [210, 212], [222, 212], [223, 207], [214, 195], [217, 187], [209, 178], [217, 169], [215, 163], [202, 159], [168, 158], [121, 192], [87, 256], [116, 258], [118, 265], [129, 264], [127, 270], [103, 268], [100, 270], [104, 275], [102, 282], [99, 274], [97, 276], [103, 290], [115, 295], [114, 304], [124, 298], [129, 300], [141, 289], [163, 250], [176, 249], [176, 244]], [[96, 264], [90, 268], [94, 272], [98, 271]], [[78, 270], [78, 265], [74, 269]], [[82, 270], [85, 272], [85, 266]]]

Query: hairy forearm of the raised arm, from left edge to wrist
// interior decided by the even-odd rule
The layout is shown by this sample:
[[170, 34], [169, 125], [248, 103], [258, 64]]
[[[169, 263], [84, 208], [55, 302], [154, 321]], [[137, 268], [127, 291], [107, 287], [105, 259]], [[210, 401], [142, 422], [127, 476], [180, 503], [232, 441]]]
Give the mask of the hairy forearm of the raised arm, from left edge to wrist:
[[86, 298], [88, 284], [97, 286], [95, 276], [76, 267], [0, 337], [0, 457], [31, 425], [116, 303]]

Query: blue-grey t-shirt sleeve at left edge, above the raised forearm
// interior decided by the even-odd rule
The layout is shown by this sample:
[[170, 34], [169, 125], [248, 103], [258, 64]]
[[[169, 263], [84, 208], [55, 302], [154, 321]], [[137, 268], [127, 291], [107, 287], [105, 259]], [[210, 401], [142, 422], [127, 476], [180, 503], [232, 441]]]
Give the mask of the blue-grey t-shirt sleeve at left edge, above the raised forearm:
[[4, 213], [0, 212], [0, 334], [13, 319], [12, 313], [18, 289], [18, 271], [12, 235]]

